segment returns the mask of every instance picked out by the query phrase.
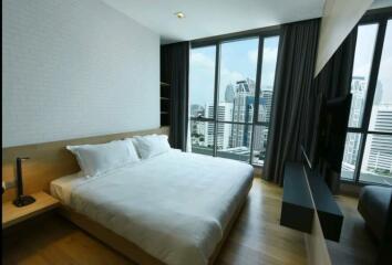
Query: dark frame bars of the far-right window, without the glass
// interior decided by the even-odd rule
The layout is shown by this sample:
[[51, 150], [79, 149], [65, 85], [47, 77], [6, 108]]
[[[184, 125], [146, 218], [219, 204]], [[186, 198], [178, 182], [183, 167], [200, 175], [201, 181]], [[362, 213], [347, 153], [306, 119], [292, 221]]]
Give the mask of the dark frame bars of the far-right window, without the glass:
[[358, 155], [357, 155], [355, 168], [353, 171], [353, 179], [341, 178], [342, 182], [347, 182], [347, 183], [353, 182], [357, 186], [378, 184], [378, 186], [390, 187], [389, 184], [385, 184], [385, 183], [369, 182], [369, 181], [361, 180], [361, 169], [362, 169], [362, 162], [363, 162], [363, 156], [364, 156], [368, 135], [392, 136], [392, 132], [389, 132], [389, 131], [375, 131], [375, 130], [369, 129], [371, 113], [372, 113], [372, 107], [373, 107], [373, 100], [374, 100], [374, 95], [375, 95], [375, 89], [376, 89], [376, 82], [379, 78], [379, 71], [380, 71], [380, 64], [381, 64], [381, 59], [382, 59], [383, 45], [384, 45], [384, 40], [385, 40], [385, 31], [386, 31], [386, 25], [388, 25], [389, 20], [392, 20], [392, 8], [371, 10], [355, 25], [355, 30], [358, 30], [358, 26], [361, 26], [361, 25], [378, 24], [378, 32], [376, 32], [376, 36], [375, 36], [373, 57], [372, 57], [372, 63], [371, 63], [371, 67], [370, 67], [369, 83], [368, 83], [368, 88], [367, 88], [362, 121], [359, 127], [349, 127], [348, 126], [348, 128], [347, 128], [347, 134], [353, 132], [353, 134], [360, 135], [360, 144], [359, 144], [359, 149], [358, 149]]

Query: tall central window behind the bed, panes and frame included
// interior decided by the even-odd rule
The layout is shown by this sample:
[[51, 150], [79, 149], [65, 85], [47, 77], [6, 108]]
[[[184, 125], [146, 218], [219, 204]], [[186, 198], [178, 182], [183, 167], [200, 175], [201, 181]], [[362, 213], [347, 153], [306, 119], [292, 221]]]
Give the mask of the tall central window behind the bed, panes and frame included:
[[277, 32], [193, 46], [192, 151], [262, 166], [268, 144]]

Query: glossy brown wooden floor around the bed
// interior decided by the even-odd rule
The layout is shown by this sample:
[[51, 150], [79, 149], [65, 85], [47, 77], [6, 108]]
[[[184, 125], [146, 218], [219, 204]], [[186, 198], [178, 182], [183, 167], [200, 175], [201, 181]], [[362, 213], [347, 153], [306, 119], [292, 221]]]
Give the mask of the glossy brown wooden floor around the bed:
[[[279, 187], [255, 179], [217, 264], [306, 264], [302, 233], [279, 225], [281, 193]], [[354, 202], [345, 202], [344, 198], [341, 201], [347, 205], [344, 211], [353, 209]], [[357, 224], [348, 223], [344, 229], [358, 233], [360, 224]], [[334, 252], [334, 257], [341, 258], [357, 244], [349, 235], [344, 242], [345, 251]], [[2, 243], [3, 264], [132, 264], [55, 213], [3, 231]], [[333, 243], [329, 247], [333, 251]]]

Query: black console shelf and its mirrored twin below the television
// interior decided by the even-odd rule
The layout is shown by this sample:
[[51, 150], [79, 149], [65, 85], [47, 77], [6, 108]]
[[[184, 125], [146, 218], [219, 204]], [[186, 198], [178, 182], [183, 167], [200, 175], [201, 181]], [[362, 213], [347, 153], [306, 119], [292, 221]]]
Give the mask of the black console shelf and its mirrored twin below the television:
[[286, 163], [280, 224], [311, 233], [314, 211], [324, 239], [339, 242], [343, 214], [324, 180], [303, 163]]

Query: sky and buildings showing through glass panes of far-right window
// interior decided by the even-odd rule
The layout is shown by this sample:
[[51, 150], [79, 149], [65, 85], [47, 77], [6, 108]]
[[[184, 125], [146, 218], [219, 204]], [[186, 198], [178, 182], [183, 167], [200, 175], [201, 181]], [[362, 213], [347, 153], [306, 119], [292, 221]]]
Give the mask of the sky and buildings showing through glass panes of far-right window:
[[[375, 24], [362, 25], [358, 30], [349, 127], [355, 128], [362, 125], [376, 31]], [[392, 24], [389, 21], [368, 130], [392, 132], [392, 75], [389, 74], [391, 67]], [[362, 134], [349, 132], [347, 136], [342, 163], [344, 178], [354, 178], [360, 144], [363, 140]], [[368, 134], [364, 144], [362, 165], [359, 169], [360, 179], [392, 184], [392, 137]]]

